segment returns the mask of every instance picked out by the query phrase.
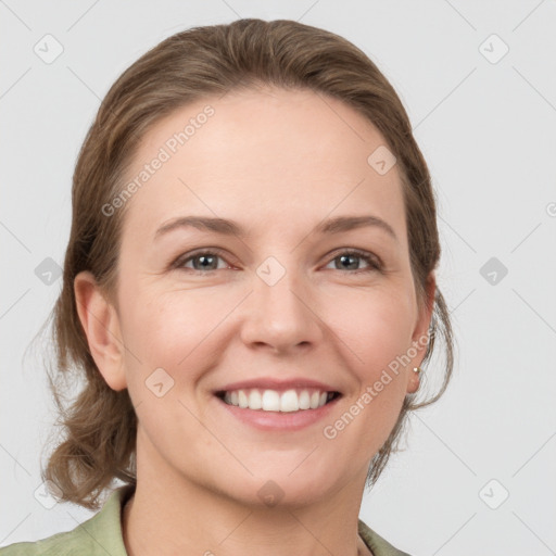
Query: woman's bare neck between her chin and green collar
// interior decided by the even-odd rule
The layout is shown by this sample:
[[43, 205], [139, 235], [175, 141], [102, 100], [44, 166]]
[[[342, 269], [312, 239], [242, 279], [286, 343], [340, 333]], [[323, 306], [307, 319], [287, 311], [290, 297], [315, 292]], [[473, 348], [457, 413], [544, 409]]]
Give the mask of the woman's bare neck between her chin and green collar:
[[139, 444], [137, 488], [122, 516], [129, 556], [372, 554], [357, 533], [365, 477], [311, 504], [266, 507], [239, 503], [170, 466], [143, 465]]

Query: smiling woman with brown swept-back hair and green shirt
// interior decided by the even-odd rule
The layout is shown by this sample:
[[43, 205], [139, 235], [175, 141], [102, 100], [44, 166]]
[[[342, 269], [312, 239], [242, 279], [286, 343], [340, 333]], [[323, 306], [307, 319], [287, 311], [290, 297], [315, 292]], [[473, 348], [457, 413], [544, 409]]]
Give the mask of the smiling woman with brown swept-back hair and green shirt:
[[[430, 176], [376, 65], [240, 20], [113, 85], [73, 185], [43, 479], [99, 509], [11, 554], [405, 554], [358, 519], [452, 332]], [[429, 399], [421, 366], [446, 344]]]

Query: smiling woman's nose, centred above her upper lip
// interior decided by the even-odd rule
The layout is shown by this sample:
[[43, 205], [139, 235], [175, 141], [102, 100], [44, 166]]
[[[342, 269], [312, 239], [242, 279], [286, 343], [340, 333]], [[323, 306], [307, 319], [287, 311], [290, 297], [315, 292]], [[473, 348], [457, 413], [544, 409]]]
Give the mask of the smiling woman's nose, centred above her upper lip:
[[311, 285], [280, 266], [270, 261], [254, 274], [253, 291], [244, 303], [241, 337], [247, 345], [286, 353], [317, 344], [324, 336], [324, 324]]

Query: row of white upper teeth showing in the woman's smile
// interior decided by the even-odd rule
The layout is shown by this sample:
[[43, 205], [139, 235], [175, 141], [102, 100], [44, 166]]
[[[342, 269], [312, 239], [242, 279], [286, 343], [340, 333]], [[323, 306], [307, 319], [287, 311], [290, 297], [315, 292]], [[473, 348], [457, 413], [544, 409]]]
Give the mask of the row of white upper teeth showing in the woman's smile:
[[224, 401], [242, 408], [263, 412], [296, 412], [316, 409], [328, 401], [328, 392], [321, 390], [232, 390], [224, 394]]

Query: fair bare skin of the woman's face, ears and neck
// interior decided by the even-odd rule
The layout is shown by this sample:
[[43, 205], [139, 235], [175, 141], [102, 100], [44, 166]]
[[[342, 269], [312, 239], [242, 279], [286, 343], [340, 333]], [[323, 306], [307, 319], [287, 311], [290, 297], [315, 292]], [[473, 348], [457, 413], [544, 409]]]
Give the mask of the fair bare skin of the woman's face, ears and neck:
[[[128, 388], [139, 419], [126, 547], [132, 556], [365, 554], [357, 517], [369, 462], [405, 394], [418, 389], [413, 367], [425, 348], [334, 439], [323, 429], [429, 327], [413, 283], [397, 166], [379, 175], [367, 163], [386, 141], [342, 102], [258, 89], [161, 121], [129, 179], [208, 103], [214, 115], [127, 201], [115, 303], [89, 273], [75, 280], [94, 361], [111, 388]], [[369, 214], [396, 239], [379, 227], [312, 233], [326, 218]], [[153, 240], [185, 215], [230, 218], [248, 236], [184, 228]], [[211, 270], [187, 257], [168, 269], [199, 248], [225, 254]], [[364, 258], [342, 265], [350, 249], [378, 256], [382, 270]], [[269, 256], [285, 270], [274, 286], [256, 273]], [[162, 397], [146, 386], [156, 368], [174, 380]], [[315, 379], [343, 397], [324, 422], [263, 432], [230, 417], [212, 393], [255, 377]], [[268, 480], [283, 493], [274, 507], [257, 495]]]

